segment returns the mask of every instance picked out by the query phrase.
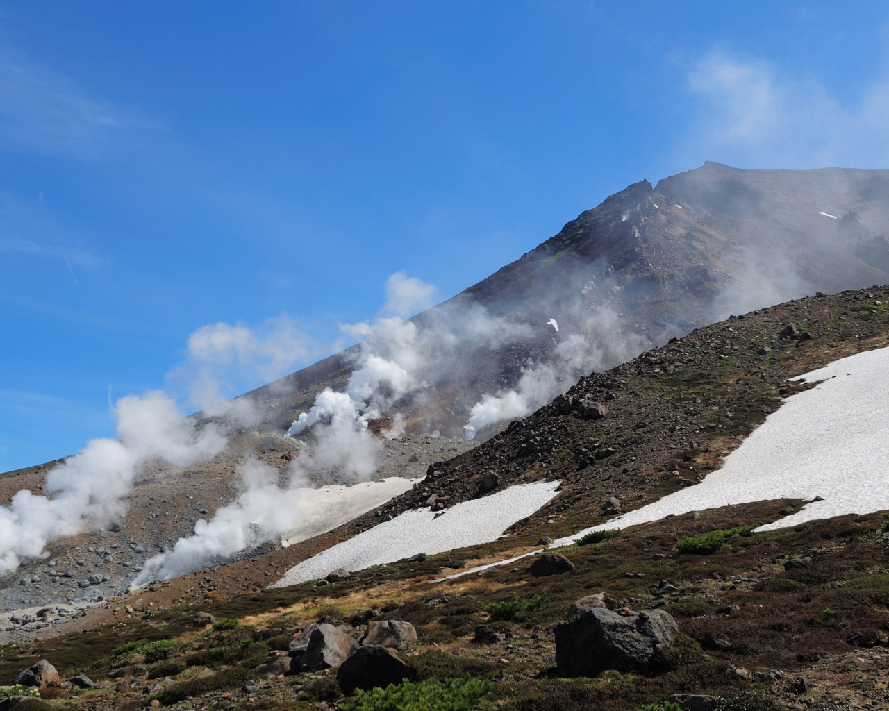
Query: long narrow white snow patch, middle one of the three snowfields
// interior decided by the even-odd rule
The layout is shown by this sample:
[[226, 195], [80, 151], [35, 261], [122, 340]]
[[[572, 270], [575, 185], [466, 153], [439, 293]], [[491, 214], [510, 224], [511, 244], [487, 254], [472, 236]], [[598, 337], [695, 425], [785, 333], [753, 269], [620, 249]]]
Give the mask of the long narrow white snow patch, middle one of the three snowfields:
[[418, 553], [432, 555], [488, 543], [552, 499], [560, 483], [510, 486], [483, 499], [463, 501], [437, 517], [428, 508], [405, 511], [295, 565], [270, 587], [324, 578], [338, 568], [360, 571]]

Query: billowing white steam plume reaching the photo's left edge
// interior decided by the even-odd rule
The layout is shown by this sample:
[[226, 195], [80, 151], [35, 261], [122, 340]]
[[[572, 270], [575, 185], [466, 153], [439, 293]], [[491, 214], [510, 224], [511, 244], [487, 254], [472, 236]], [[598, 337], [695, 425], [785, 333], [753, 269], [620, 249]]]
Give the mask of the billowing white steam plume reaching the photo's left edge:
[[115, 408], [118, 440], [93, 439], [46, 477], [47, 496], [23, 489], [0, 508], [0, 575], [22, 558], [42, 555], [52, 540], [103, 525], [126, 512], [124, 496], [148, 459], [187, 467], [211, 459], [225, 446], [212, 427], [196, 431], [160, 392], [129, 395]]

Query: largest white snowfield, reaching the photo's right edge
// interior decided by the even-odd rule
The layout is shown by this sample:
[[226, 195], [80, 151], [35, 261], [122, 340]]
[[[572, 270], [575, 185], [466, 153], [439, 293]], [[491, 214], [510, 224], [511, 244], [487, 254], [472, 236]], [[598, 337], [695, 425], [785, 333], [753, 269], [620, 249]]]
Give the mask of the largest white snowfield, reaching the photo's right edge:
[[810, 502], [757, 531], [889, 508], [889, 348], [795, 379], [823, 382], [786, 399], [704, 481], [553, 545], [569, 545], [589, 531], [769, 499]]

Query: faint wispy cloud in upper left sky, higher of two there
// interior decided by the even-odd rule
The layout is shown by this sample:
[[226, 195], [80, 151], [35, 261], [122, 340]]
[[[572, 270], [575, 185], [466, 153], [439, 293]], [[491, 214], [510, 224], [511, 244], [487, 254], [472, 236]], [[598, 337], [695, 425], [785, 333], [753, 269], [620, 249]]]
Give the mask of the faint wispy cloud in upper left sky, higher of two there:
[[68, 76], [0, 52], [0, 148], [90, 161], [162, 125]]

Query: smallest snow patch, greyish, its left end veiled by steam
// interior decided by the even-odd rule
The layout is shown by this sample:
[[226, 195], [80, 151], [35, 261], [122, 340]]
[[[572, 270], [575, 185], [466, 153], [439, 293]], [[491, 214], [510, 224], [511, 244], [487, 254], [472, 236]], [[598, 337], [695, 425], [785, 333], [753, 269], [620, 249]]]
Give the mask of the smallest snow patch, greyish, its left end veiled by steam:
[[422, 479], [403, 479], [389, 476], [380, 482], [361, 482], [346, 486], [329, 484], [318, 489], [292, 489], [286, 496], [293, 507], [300, 511], [300, 520], [290, 530], [281, 534], [284, 547], [299, 543], [385, 504]]

